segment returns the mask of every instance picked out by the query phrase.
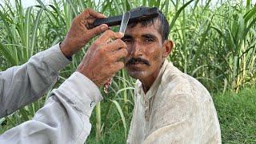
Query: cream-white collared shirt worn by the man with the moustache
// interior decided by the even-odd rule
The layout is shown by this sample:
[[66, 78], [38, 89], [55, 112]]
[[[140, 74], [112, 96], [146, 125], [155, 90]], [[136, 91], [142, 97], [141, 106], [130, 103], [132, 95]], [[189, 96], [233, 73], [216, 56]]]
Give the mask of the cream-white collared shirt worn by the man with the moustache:
[[136, 82], [127, 143], [221, 143], [209, 92], [166, 60], [146, 94], [142, 83]]

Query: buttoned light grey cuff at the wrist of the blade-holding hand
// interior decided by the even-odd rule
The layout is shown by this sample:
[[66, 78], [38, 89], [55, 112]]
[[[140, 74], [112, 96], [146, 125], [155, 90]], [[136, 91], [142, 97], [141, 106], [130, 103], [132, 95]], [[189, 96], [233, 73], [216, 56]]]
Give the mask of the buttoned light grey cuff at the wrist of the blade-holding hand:
[[94, 106], [103, 99], [98, 86], [79, 72], [74, 72], [54, 90], [54, 95], [66, 99], [75, 109], [89, 116]]

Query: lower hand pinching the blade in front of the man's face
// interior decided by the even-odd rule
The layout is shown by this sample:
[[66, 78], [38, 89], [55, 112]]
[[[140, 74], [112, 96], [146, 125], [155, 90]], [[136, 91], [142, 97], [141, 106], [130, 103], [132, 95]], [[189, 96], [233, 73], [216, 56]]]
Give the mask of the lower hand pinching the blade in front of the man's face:
[[[109, 78], [124, 67], [120, 60], [126, 57], [126, 43], [121, 33], [106, 30], [87, 50], [78, 66], [78, 72], [90, 78], [97, 86], [105, 84]], [[110, 42], [110, 39], [116, 39]]]

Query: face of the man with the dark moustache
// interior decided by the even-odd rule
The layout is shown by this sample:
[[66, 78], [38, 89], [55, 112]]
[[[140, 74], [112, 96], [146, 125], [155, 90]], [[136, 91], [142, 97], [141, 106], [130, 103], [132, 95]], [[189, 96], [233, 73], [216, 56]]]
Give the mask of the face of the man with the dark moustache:
[[126, 42], [128, 55], [125, 59], [126, 70], [132, 78], [144, 79], [155, 74], [164, 61], [162, 36], [158, 32], [158, 21], [148, 26], [138, 23], [128, 26], [122, 40]]

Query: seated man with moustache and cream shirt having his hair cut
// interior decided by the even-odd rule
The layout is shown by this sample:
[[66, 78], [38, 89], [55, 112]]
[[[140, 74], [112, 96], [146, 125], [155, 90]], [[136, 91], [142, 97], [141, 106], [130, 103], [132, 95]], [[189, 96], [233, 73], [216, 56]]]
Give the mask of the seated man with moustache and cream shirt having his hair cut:
[[221, 143], [209, 92], [166, 60], [174, 47], [169, 33], [169, 23], [159, 11], [156, 18], [130, 23], [122, 38], [128, 51], [126, 70], [138, 79], [127, 143]]

